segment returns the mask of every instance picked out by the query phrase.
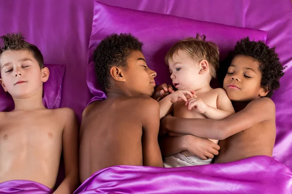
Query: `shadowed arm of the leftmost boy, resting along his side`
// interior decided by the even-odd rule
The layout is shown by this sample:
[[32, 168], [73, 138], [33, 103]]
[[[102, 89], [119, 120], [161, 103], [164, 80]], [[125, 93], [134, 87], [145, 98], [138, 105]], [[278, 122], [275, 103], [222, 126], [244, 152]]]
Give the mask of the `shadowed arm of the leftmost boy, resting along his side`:
[[73, 194], [79, 184], [78, 177], [78, 124], [75, 113], [66, 109], [66, 124], [62, 134], [62, 147], [65, 163], [65, 179], [54, 194]]

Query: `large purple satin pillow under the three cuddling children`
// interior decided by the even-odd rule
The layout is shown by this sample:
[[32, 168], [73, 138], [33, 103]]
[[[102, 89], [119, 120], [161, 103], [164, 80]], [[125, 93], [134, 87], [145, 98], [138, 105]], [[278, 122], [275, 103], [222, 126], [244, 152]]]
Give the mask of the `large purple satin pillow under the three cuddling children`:
[[144, 43], [143, 53], [147, 65], [157, 72], [157, 84], [171, 83], [164, 56], [171, 46], [185, 37], [195, 37], [197, 32], [206, 35], [206, 40], [218, 44], [221, 58], [233, 50], [236, 42], [243, 37], [250, 36], [256, 41], [266, 41], [267, 38], [264, 31], [114, 7], [95, 0], [86, 78], [93, 95], [91, 102], [106, 98], [97, 83], [93, 51], [106, 36], [125, 32], [131, 32]]

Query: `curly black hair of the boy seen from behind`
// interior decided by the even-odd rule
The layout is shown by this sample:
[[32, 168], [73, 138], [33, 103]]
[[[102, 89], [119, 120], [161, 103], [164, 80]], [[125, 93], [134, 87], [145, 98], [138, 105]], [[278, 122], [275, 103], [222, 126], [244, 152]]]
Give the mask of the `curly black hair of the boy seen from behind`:
[[110, 88], [110, 68], [126, 66], [132, 51], [142, 51], [143, 43], [130, 33], [112, 34], [103, 39], [93, 52], [97, 80], [104, 90]]

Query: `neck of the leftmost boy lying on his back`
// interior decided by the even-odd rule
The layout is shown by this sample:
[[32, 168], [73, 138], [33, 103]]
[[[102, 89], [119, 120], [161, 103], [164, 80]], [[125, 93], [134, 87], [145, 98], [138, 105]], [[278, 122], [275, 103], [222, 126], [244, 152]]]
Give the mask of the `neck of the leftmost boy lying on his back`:
[[42, 102], [42, 93], [35, 94], [26, 98], [13, 98], [14, 111], [34, 111], [38, 109], [45, 109]]

